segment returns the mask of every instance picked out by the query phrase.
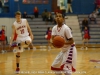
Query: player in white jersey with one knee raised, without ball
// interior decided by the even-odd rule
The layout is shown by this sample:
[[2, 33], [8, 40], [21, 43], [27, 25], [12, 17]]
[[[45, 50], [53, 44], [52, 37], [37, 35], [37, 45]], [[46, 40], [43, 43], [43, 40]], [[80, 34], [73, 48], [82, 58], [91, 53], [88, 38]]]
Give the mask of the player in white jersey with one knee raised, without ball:
[[14, 34], [17, 34], [16, 43], [17, 46], [15, 47], [16, 51], [16, 72], [20, 71], [19, 68], [19, 58], [20, 52], [23, 52], [24, 46], [29, 46], [29, 44], [33, 40], [33, 34], [29, 27], [29, 24], [26, 19], [21, 19], [21, 12], [17, 11], [15, 14], [16, 21], [12, 25], [12, 36], [10, 40], [10, 45], [13, 44]]

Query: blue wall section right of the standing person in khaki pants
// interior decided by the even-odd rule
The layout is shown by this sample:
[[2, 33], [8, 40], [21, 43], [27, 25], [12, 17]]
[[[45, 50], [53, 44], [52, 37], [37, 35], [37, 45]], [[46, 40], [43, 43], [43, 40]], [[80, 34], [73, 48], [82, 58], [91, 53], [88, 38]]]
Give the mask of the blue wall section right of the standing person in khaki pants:
[[73, 0], [72, 8], [75, 14], [90, 14], [94, 10], [94, 0]]

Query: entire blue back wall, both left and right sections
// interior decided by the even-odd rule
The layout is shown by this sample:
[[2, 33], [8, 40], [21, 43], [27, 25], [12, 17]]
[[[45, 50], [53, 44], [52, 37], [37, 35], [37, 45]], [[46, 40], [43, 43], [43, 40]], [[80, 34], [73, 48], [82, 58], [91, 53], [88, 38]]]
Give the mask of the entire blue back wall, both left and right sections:
[[[14, 0], [9, 0], [7, 3], [9, 5], [9, 13], [2, 13], [0, 16], [14, 17], [14, 13], [18, 10], [18, 4], [22, 13], [26, 11], [28, 14], [32, 14], [34, 6], [37, 6], [41, 14], [45, 8], [47, 8], [48, 11], [52, 10], [52, 1], [53, 0], [49, 0], [49, 4], [23, 4], [22, 0], [19, 0], [19, 3], [14, 2]], [[72, 8], [74, 14], [90, 14], [94, 10], [93, 2], [94, 0], [73, 0]]]

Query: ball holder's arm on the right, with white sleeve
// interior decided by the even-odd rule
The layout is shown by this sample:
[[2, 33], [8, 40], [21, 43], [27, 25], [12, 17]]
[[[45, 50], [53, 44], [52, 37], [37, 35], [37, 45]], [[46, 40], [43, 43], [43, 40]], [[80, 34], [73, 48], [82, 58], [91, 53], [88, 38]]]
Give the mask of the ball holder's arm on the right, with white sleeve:
[[65, 36], [67, 38], [67, 41], [65, 42], [66, 45], [71, 45], [74, 43], [74, 40], [72, 38], [72, 33], [70, 29], [65, 30]]

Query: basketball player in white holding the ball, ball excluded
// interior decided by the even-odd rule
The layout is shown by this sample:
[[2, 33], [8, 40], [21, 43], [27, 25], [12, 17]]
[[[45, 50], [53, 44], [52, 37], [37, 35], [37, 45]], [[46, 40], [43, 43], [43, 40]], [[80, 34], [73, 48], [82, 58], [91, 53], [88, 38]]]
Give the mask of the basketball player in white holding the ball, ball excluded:
[[76, 71], [76, 47], [71, 34], [71, 29], [64, 24], [64, 17], [58, 13], [55, 17], [57, 25], [52, 29], [52, 40], [55, 36], [62, 36], [65, 39], [65, 45], [61, 48], [61, 52], [57, 55], [51, 65], [51, 70], [56, 75], [72, 75]]

